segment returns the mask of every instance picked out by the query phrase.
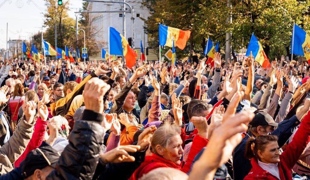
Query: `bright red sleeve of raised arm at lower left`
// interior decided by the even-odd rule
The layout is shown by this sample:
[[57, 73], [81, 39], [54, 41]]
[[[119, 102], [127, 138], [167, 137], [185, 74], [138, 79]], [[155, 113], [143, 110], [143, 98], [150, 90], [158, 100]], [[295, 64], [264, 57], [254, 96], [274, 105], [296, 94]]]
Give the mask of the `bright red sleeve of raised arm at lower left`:
[[43, 121], [40, 117], [37, 120], [36, 125], [34, 125], [34, 132], [32, 134], [32, 137], [30, 139], [30, 142], [28, 146], [26, 147], [25, 151], [23, 152], [22, 155], [14, 162], [15, 168], [19, 167], [20, 163], [26, 158], [26, 155], [41, 146], [44, 135], [45, 135], [45, 130], [47, 128], [49, 121]]

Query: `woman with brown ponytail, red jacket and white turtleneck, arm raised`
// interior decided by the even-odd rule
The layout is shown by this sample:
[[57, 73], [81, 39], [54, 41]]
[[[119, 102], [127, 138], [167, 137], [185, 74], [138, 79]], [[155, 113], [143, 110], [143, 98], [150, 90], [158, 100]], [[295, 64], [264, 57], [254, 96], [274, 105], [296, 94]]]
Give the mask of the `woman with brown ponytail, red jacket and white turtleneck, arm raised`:
[[292, 180], [291, 170], [309, 142], [310, 113], [300, 124], [292, 142], [280, 155], [277, 136], [262, 135], [249, 138], [246, 143], [246, 157], [251, 159], [252, 169], [244, 178]]

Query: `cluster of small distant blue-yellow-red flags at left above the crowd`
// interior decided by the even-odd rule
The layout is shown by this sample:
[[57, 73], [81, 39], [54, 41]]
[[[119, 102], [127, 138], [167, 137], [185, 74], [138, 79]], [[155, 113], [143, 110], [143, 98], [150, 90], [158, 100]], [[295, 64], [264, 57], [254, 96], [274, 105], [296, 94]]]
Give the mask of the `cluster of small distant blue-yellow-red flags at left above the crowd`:
[[[70, 62], [75, 62], [67, 46], [65, 46], [65, 51], [59, 47], [57, 47], [56, 51], [55, 48], [50, 43], [43, 40], [43, 48], [45, 55], [57, 56], [57, 59], [59, 58], [66, 60], [69, 59]], [[40, 61], [41, 59], [44, 58], [44, 56], [38, 52], [38, 49], [35, 45], [31, 44], [31, 51], [30, 51], [25, 42], [23, 42], [23, 53], [26, 53], [27, 57], [31, 58], [33, 61]], [[78, 47], [77, 47], [77, 61], [78, 62], [81, 61]]]

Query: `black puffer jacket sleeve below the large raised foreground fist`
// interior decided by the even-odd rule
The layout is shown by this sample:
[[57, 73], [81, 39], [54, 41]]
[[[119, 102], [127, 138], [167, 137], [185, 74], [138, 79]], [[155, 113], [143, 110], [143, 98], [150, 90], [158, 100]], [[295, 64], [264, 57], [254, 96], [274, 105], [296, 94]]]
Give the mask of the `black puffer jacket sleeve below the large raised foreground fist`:
[[74, 124], [69, 135], [69, 145], [62, 152], [56, 169], [46, 179], [91, 179], [99, 161], [100, 144], [104, 131], [103, 115], [84, 110], [82, 120]]

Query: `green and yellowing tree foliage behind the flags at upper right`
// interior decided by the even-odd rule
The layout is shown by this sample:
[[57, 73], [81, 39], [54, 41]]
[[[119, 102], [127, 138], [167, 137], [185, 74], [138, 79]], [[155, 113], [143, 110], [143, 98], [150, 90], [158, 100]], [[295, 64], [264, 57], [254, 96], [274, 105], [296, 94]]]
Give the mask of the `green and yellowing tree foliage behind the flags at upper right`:
[[[158, 54], [159, 23], [192, 31], [184, 51], [176, 49], [178, 57], [202, 53], [208, 37], [214, 44], [219, 41], [224, 50], [226, 32], [232, 32], [232, 49], [238, 52], [247, 47], [254, 33], [269, 59], [273, 59], [290, 54], [294, 22], [310, 32], [310, 0], [231, 0], [231, 3], [232, 7], [227, 7], [227, 0], [144, 0], [143, 5], [151, 14], [144, 20], [151, 39], [149, 45]], [[229, 13], [232, 24], [227, 23]]]

